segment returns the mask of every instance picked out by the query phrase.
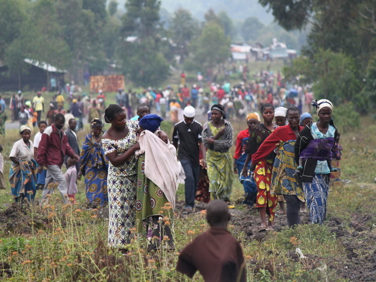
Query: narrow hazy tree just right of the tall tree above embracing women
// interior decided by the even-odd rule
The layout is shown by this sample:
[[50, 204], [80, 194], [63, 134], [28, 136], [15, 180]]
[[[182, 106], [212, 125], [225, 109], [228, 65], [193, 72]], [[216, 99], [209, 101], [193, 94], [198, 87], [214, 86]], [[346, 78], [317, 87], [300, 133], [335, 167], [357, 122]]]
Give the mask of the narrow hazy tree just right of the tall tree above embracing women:
[[188, 56], [188, 46], [198, 32], [198, 24], [188, 10], [175, 11], [171, 20], [171, 39], [176, 44], [176, 54], [180, 55], [180, 63]]

